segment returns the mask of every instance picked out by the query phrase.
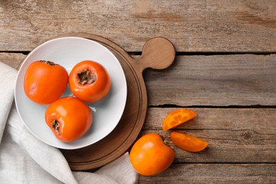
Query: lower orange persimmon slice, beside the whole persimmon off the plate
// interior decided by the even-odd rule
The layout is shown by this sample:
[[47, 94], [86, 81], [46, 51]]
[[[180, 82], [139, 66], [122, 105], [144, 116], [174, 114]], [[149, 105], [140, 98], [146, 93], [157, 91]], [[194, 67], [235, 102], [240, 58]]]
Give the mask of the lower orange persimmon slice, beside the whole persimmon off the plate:
[[171, 140], [180, 149], [190, 152], [202, 151], [208, 146], [207, 141], [180, 132], [171, 132]]

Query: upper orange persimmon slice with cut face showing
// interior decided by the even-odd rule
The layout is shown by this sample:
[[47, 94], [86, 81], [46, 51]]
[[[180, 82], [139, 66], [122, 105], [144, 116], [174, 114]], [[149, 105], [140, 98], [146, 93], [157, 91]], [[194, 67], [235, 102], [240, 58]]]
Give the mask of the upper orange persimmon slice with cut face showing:
[[173, 110], [163, 120], [163, 131], [170, 130], [174, 127], [177, 127], [178, 125], [181, 125], [184, 122], [187, 122], [188, 120], [192, 120], [196, 116], [197, 116], [197, 113], [195, 113], [192, 110], [188, 110], [188, 109]]

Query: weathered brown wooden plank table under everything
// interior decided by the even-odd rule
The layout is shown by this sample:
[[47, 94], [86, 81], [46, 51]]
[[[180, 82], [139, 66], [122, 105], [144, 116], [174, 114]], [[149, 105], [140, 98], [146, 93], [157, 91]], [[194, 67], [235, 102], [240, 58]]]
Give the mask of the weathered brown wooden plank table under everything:
[[178, 149], [167, 171], [139, 183], [276, 182], [276, 1], [0, 1], [0, 62], [65, 33], [101, 35], [139, 57], [146, 40], [176, 47], [163, 71], [146, 70], [149, 106], [142, 134], [189, 108], [176, 130], [206, 139], [200, 153]]

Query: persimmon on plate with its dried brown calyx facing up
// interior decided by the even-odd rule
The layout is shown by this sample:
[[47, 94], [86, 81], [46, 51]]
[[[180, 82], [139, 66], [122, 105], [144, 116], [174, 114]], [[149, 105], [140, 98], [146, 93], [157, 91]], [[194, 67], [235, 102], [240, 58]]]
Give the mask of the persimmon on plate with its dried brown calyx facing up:
[[91, 60], [76, 64], [69, 74], [71, 92], [88, 103], [103, 99], [111, 87], [111, 79], [103, 65]]

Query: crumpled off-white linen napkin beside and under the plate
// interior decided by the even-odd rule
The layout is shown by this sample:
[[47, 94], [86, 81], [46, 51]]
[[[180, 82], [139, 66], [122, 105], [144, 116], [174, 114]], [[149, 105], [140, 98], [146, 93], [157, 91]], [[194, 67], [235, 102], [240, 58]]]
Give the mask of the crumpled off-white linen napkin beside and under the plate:
[[23, 125], [13, 103], [16, 74], [0, 62], [0, 183], [137, 183], [128, 153], [95, 173], [72, 172], [59, 149]]

